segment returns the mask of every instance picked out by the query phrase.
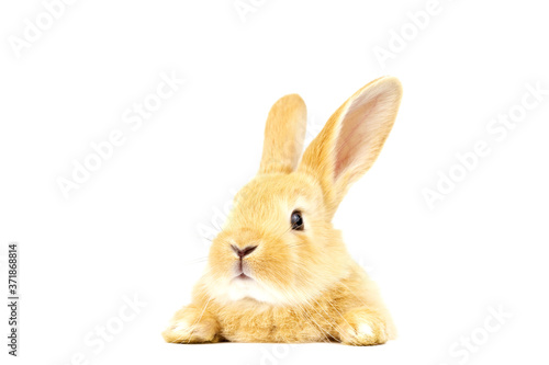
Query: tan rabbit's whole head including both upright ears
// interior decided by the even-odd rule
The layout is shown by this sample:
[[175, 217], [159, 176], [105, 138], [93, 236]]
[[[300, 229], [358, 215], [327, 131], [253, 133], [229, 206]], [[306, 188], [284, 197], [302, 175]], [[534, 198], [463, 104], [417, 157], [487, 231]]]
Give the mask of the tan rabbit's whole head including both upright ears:
[[274, 103], [257, 176], [235, 196], [210, 249], [203, 285], [211, 297], [300, 305], [348, 273], [354, 262], [332, 218], [348, 187], [379, 156], [401, 95], [392, 77], [365, 85], [303, 156], [303, 100], [291, 94]]

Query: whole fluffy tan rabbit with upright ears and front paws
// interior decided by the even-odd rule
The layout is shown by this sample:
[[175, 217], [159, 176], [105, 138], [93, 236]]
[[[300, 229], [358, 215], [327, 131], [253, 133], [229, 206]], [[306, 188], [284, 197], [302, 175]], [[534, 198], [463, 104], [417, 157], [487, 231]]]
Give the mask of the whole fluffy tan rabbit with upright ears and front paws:
[[395, 338], [377, 285], [351, 259], [332, 218], [378, 158], [401, 98], [396, 78], [371, 81], [332, 115], [303, 156], [303, 100], [289, 94], [274, 103], [259, 171], [235, 195], [191, 304], [163, 332], [166, 342], [374, 345]]

